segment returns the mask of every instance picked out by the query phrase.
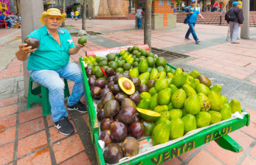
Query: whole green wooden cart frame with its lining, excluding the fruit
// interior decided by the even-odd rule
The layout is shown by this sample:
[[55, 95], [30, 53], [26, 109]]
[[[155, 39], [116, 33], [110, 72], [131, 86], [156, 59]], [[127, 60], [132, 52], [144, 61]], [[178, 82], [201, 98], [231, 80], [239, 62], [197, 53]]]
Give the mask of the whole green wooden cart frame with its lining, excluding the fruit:
[[[114, 48], [112, 52], [118, 53], [117, 50], [127, 49], [128, 46], [121, 47], [120, 49]], [[142, 46], [145, 49], [145, 46]], [[104, 50], [110, 52], [108, 50]], [[86, 53], [87, 55], [96, 55], [97, 51]], [[98, 52], [103, 52], [99, 50]], [[86, 70], [84, 68], [83, 58], [80, 57], [80, 66], [83, 74], [83, 88], [84, 96], [86, 99], [86, 108], [88, 110], [89, 118], [89, 128], [91, 133], [91, 142], [94, 144], [95, 152], [97, 155], [97, 163], [105, 164], [103, 158], [103, 150], [100, 147], [99, 141], [99, 123], [97, 120], [96, 108], [94, 107], [94, 102], [91, 97], [91, 92], [89, 88], [89, 83], [86, 75]], [[167, 63], [167, 66], [170, 64]], [[172, 69], [176, 69], [173, 66], [170, 66]], [[200, 147], [203, 144], [207, 144], [210, 141], [215, 141], [220, 147], [230, 150], [232, 152], [241, 152], [242, 147], [234, 141], [231, 137], [228, 136], [228, 133], [231, 133], [235, 130], [240, 129], [244, 126], [249, 126], [250, 116], [249, 113], [246, 113], [245, 110], [241, 110], [244, 115], [243, 119], [228, 119], [225, 122], [219, 124], [214, 124], [210, 127], [207, 127], [204, 130], [197, 131], [193, 136], [184, 136], [179, 141], [168, 144], [160, 144], [159, 147], [153, 147], [152, 150], [147, 150], [142, 152], [142, 154], [136, 155], [135, 157], [128, 158], [126, 160], [120, 160], [120, 164], [132, 164], [132, 165], [150, 165], [150, 164], [162, 164], [165, 161], [168, 161], [172, 158], [183, 154], [184, 152], [189, 152], [190, 150]]]

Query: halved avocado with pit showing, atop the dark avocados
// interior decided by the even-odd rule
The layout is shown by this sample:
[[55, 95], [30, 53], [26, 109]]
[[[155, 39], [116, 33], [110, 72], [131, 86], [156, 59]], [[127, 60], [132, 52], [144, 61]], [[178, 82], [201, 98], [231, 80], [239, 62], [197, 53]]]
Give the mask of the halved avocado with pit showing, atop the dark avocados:
[[127, 77], [120, 77], [118, 79], [118, 85], [125, 94], [131, 95], [135, 92], [134, 82], [132, 82]]

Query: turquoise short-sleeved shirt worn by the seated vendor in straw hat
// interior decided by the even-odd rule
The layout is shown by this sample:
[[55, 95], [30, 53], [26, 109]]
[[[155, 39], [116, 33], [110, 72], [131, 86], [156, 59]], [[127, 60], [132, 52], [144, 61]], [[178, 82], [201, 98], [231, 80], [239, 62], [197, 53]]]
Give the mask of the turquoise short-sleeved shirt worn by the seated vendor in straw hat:
[[44, 25], [35, 29], [27, 38], [37, 38], [40, 45], [32, 52], [27, 63], [27, 70], [58, 70], [69, 63], [69, 49], [75, 47], [70, 33], [66, 29], [58, 29], [60, 45], [49, 34]]

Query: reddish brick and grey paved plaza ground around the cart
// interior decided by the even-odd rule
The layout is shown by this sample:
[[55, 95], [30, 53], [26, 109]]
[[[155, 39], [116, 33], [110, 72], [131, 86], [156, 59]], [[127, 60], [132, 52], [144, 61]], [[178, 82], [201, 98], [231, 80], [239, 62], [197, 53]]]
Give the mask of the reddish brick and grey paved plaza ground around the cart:
[[[81, 20], [68, 18], [66, 25], [80, 29]], [[134, 21], [88, 20], [87, 30], [102, 35], [88, 36], [86, 48], [71, 56], [71, 61], [77, 62], [89, 49], [143, 43], [143, 30], [134, 29]], [[173, 65], [186, 71], [198, 69], [210, 75], [212, 82], [223, 83], [223, 94], [241, 101], [251, 114], [251, 123], [229, 134], [241, 144], [242, 152], [223, 150], [212, 141], [165, 164], [256, 164], [256, 29], [251, 28], [250, 40], [241, 40], [238, 45], [226, 42], [227, 27], [197, 24], [199, 45], [184, 41], [186, 30], [184, 24], [177, 24], [176, 29], [154, 30], [152, 46], [189, 55]], [[26, 109], [23, 66], [14, 54], [20, 40], [20, 29], [0, 29], [0, 164], [97, 164], [87, 114], [69, 113], [76, 132], [62, 136], [51, 116], [41, 115], [41, 105]], [[77, 37], [73, 40], [76, 42]], [[69, 82], [70, 90], [72, 85]]]

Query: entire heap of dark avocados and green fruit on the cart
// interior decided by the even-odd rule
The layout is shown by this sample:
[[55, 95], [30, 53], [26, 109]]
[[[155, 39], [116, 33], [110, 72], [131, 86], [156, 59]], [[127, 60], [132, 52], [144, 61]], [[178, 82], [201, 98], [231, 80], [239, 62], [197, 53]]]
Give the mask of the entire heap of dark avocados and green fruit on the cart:
[[[124, 132], [114, 142], [122, 142], [129, 136], [138, 140], [144, 135], [151, 136], [154, 145], [163, 144], [191, 130], [229, 119], [237, 111], [241, 113], [238, 100], [228, 102], [221, 96], [221, 85], [212, 86], [210, 79], [196, 70], [190, 73], [180, 68], [174, 70], [164, 57], [138, 46], [124, 49], [119, 55], [109, 53], [106, 57], [83, 60], [88, 65], [91, 96], [101, 99], [97, 118], [108, 119], [106, 129], [111, 130], [111, 122], [122, 122], [128, 127], [130, 134]], [[140, 129], [131, 134], [134, 122]], [[108, 134], [111, 137], [111, 131]], [[109, 158], [109, 155], [106, 159], [114, 162], [122, 157]]]

